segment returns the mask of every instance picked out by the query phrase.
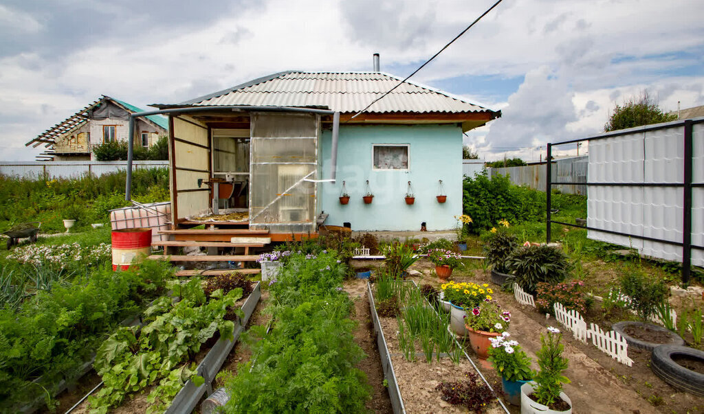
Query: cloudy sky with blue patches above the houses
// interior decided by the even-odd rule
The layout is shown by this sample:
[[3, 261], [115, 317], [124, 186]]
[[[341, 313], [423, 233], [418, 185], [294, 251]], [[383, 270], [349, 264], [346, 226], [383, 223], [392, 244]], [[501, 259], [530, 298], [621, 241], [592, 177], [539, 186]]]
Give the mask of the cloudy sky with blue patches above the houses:
[[[283, 70], [406, 77], [494, 1], [0, 1], [0, 160], [101, 95], [147, 108]], [[704, 1], [504, 0], [412, 79], [502, 117], [467, 132], [482, 159], [538, 160], [603, 131], [648, 91], [704, 105]], [[574, 153], [565, 148], [562, 155]]]

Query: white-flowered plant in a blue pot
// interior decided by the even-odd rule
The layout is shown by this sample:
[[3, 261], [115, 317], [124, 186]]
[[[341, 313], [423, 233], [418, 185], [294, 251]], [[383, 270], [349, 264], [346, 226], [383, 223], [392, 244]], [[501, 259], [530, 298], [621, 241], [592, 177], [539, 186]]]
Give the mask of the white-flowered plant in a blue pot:
[[508, 403], [521, 405], [521, 387], [533, 379], [535, 373], [530, 368], [531, 359], [521, 349], [520, 344], [508, 339], [510, 334], [503, 332], [498, 337], [489, 339], [488, 361], [501, 376], [501, 387]]

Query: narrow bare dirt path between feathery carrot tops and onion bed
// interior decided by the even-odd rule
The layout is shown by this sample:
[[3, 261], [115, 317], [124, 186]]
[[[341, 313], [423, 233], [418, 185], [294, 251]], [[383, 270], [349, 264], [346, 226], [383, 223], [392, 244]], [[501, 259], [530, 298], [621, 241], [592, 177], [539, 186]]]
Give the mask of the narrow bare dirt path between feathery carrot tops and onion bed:
[[367, 375], [367, 382], [372, 387], [372, 399], [367, 402], [367, 409], [375, 413], [393, 413], [389, 392], [384, 387], [384, 371], [369, 311], [367, 280], [348, 280], [344, 283], [344, 288], [355, 304], [352, 318], [358, 325], [354, 331], [354, 340], [367, 354], [367, 358], [357, 364], [357, 368]]

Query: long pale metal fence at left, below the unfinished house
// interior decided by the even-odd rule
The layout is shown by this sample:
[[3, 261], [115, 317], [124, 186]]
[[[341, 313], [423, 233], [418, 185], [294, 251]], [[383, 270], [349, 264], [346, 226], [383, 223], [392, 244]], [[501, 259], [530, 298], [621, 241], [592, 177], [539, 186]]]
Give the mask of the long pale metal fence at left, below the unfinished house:
[[[127, 168], [126, 161], [0, 161], [0, 174], [27, 179], [76, 178], [84, 174], [101, 176]], [[134, 161], [134, 168], [168, 168], [168, 161]]]

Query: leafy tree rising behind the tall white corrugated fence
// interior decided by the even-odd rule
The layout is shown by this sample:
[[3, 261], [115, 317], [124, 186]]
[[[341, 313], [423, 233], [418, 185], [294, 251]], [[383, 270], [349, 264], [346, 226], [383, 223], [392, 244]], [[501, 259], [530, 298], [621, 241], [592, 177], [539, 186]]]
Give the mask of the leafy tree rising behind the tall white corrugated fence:
[[660, 122], [670, 122], [676, 119], [677, 115], [663, 112], [658, 105], [658, 101], [655, 98], [651, 98], [648, 95], [648, 91], [643, 91], [638, 98], [631, 96], [622, 105], [616, 104], [616, 107], [609, 114], [608, 122], [604, 125], [604, 131], [659, 124]]

